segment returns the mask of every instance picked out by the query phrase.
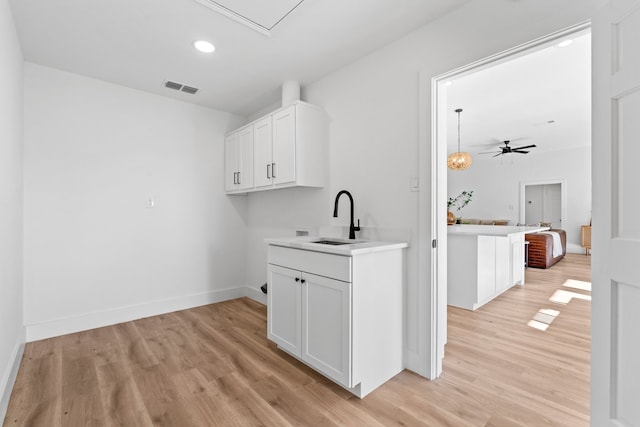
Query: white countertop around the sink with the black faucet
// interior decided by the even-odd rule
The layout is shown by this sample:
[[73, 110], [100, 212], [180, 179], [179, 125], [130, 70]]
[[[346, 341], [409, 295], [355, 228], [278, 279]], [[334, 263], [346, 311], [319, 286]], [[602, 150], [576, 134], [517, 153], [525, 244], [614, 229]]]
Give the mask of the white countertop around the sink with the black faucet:
[[[349, 242], [345, 245], [327, 245], [314, 243], [319, 240], [333, 240]], [[353, 256], [371, 252], [389, 251], [392, 249], [402, 249], [409, 246], [405, 242], [379, 242], [374, 240], [348, 240], [334, 237], [302, 236], [302, 237], [281, 237], [264, 239], [265, 243], [287, 248], [302, 249], [306, 251], [324, 252], [327, 254]], [[352, 243], [351, 243], [352, 242]]]

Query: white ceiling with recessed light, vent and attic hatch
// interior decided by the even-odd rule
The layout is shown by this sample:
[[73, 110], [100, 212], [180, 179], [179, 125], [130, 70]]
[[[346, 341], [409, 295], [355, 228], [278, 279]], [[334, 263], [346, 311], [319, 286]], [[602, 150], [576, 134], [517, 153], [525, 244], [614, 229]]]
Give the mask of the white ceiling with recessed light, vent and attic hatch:
[[[250, 115], [279, 101], [282, 82], [310, 84], [468, 1], [11, 0], [11, 7], [26, 61]], [[196, 51], [200, 39], [215, 52]], [[166, 81], [199, 90], [167, 89]]]

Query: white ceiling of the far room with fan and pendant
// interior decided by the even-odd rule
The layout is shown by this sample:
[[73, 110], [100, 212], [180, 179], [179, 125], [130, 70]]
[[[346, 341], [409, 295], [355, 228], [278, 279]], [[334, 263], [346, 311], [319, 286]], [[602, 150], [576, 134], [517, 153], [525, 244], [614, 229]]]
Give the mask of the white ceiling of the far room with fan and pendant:
[[[473, 161], [493, 159], [504, 140], [535, 144], [530, 153], [591, 145], [591, 36], [588, 31], [533, 49], [514, 59], [452, 79], [446, 87], [448, 152]], [[563, 40], [564, 40], [563, 39]], [[522, 156], [512, 154], [504, 157]], [[517, 157], [516, 157], [517, 158]]]

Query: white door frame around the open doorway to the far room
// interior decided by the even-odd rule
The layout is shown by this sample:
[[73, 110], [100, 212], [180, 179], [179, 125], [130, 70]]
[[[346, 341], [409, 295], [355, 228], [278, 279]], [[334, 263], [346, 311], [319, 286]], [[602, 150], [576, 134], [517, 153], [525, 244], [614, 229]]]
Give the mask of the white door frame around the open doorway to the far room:
[[447, 224], [444, 203], [447, 200], [447, 134], [446, 111], [443, 108], [446, 95], [438, 89], [452, 78], [498, 65], [590, 28], [591, 21], [581, 22], [435, 77], [427, 71], [420, 72], [418, 144], [423, 153], [419, 160], [420, 188], [423, 191], [420, 191], [418, 204], [421, 262], [418, 267], [420, 358], [417, 371], [427, 378], [435, 379], [442, 373], [447, 342]]

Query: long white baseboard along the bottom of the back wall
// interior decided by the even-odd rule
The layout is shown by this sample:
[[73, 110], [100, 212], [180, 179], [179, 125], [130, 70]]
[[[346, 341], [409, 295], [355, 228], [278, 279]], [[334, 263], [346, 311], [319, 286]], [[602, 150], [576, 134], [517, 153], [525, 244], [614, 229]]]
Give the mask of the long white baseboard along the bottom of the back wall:
[[[227, 288], [25, 325], [27, 342], [236, 299], [247, 295], [246, 289], [248, 288]], [[252, 295], [247, 296], [255, 299]]]

